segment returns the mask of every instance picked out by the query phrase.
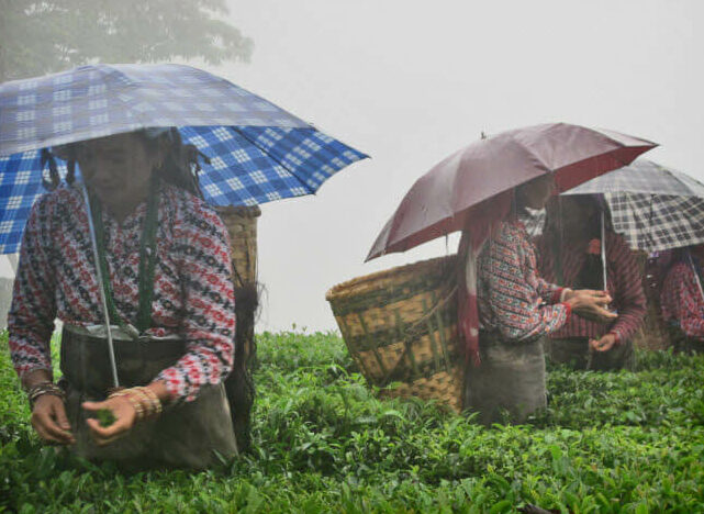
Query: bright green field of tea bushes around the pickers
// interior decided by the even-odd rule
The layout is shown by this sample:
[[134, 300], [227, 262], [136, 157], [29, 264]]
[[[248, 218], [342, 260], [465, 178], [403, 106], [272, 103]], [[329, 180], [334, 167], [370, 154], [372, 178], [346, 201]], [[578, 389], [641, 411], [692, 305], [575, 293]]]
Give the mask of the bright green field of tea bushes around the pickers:
[[255, 450], [208, 472], [125, 474], [43, 447], [0, 338], [0, 512], [704, 512], [704, 357], [551, 369], [550, 407], [477, 426], [379, 401], [334, 334], [262, 334]]

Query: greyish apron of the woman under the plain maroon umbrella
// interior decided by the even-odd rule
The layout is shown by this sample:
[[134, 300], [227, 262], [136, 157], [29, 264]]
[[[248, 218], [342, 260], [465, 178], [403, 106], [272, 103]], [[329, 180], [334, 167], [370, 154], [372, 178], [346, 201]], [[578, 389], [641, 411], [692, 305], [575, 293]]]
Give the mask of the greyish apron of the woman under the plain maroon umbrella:
[[465, 399], [480, 423], [523, 423], [547, 406], [540, 338], [505, 342], [499, 334], [480, 332], [479, 354], [481, 365], [467, 366]]

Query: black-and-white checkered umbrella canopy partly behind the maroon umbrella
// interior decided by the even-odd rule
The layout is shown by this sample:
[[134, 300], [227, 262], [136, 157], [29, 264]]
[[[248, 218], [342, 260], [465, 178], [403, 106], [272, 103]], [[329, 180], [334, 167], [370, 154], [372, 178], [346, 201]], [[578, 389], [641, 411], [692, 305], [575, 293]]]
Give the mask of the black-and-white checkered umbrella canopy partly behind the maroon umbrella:
[[614, 230], [632, 248], [660, 252], [704, 243], [704, 185], [650, 160], [635, 160], [562, 194], [603, 194]]

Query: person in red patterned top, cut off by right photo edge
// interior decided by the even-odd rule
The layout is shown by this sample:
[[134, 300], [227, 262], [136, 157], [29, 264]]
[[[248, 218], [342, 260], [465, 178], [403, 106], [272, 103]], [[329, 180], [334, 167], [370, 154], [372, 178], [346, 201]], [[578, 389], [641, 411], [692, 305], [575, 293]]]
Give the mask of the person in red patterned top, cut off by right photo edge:
[[660, 293], [675, 351], [704, 353], [704, 245], [675, 252]]

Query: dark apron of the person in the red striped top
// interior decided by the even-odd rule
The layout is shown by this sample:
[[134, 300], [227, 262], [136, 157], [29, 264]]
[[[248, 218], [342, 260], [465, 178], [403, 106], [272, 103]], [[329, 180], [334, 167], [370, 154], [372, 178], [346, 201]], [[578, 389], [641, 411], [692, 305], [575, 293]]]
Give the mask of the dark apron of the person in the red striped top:
[[570, 366], [572, 369], [596, 371], [633, 371], [636, 354], [633, 342], [614, 345], [608, 351], [591, 351], [589, 337], [546, 338], [545, 353], [550, 362]]

